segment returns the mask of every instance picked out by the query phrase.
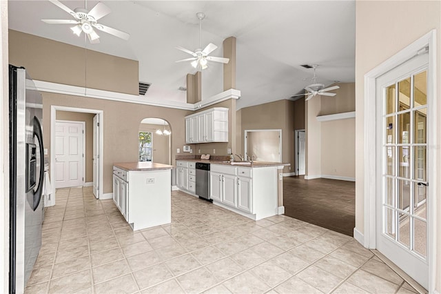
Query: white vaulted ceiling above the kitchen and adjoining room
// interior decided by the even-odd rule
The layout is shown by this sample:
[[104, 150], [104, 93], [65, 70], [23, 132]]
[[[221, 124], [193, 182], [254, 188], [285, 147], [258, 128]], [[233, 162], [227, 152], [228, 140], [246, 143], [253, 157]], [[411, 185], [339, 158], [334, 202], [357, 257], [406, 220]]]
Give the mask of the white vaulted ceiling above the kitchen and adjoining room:
[[[61, 1], [83, 8], [84, 1]], [[355, 79], [355, 1], [101, 1], [112, 12], [100, 19], [106, 26], [130, 34], [129, 41], [99, 32], [101, 43], [85, 43], [66, 25], [40, 19], [70, 19], [49, 1], [9, 1], [9, 26], [75, 46], [139, 61], [140, 81], [152, 83], [147, 99], [185, 102], [190, 57], [177, 50], [198, 47], [196, 12], [204, 12], [203, 47], [215, 43], [212, 56], [222, 56], [223, 39], [237, 39], [238, 109], [288, 99], [311, 84], [313, 72], [300, 64], [318, 64], [318, 82]], [[98, 1], [87, 1], [90, 10]], [[203, 99], [223, 92], [223, 66], [203, 70]]]

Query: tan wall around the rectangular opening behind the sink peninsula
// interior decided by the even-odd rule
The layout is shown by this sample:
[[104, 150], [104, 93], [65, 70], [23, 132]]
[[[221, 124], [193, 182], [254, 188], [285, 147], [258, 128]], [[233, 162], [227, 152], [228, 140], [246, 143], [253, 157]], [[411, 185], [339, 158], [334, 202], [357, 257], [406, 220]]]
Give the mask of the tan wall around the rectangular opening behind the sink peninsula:
[[[242, 108], [240, 112], [242, 134], [245, 130], [282, 130], [282, 161], [291, 164], [291, 166], [286, 166], [283, 169], [283, 173], [290, 173], [294, 167], [293, 101], [278, 100]], [[238, 153], [243, 154], [244, 150], [245, 143], [242, 140], [240, 152]]]

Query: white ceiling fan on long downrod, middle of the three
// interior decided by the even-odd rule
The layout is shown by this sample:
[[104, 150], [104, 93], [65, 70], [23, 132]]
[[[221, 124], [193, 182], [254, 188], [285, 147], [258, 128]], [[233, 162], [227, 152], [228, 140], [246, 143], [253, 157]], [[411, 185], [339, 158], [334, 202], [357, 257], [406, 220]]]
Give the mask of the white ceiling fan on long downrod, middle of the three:
[[192, 61], [192, 66], [194, 68], [202, 68], [203, 70], [205, 70], [205, 68], [207, 68], [207, 63], [208, 61], [215, 61], [215, 62], [220, 62], [220, 63], [228, 63], [229, 59], [228, 58], [224, 58], [224, 57], [213, 57], [213, 56], [208, 56], [211, 52], [213, 52], [214, 50], [216, 50], [216, 48], [218, 48], [218, 46], [214, 45], [214, 43], [209, 43], [207, 45], [207, 47], [204, 48], [204, 50], [202, 50], [202, 46], [201, 46], [201, 31], [202, 31], [202, 20], [205, 18], [205, 14], [203, 12], [198, 12], [196, 13], [196, 17], [198, 17], [199, 19], [199, 48], [194, 50], [194, 52], [185, 49], [181, 46], [176, 46], [176, 49], [181, 50], [183, 52], [188, 53], [189, 55], [193, 55], [193, 57], [190, 58], [186, 58], [186, 59], [181, 59], [175, 62], [183, 62], [183, 61]]

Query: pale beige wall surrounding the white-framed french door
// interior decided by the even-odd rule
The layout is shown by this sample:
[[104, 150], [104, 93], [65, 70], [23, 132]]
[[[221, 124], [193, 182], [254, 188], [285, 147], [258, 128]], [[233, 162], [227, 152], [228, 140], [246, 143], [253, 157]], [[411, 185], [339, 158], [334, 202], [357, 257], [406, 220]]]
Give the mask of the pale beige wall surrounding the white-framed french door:
[[[441, 77], [441, 2], [440, 1], [356, 1], [356, 228], [364, 232], [364, 76], [383, 61], [395, 55], [402, 48], [436, 29], [436, 70], [437, 82]], [[402, 17], [391, 17], [400, 15]], [[441, 97], [438, 83], [436, 99]], [[438, 117], [435, 126], [440, 124], [441, 104], [437, 103]], [[438, 134], [440, 133], [438, 129]], [[436, 162], [435, 182], [441, 183], [441, 136], [435, 142]], [[441, 186], [437, 185], [433, 195], [437, 197], [435, 215], [441, 215]], [[438, 221], [436, 242], [438, 254], [435, 260], [435, 289], [441, 292], [441, 226]]]

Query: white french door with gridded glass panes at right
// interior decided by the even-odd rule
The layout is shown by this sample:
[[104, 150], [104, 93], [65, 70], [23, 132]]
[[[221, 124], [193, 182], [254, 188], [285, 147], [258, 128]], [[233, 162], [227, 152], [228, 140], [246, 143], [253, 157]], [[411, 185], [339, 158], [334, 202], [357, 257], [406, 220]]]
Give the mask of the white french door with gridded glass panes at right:
[[428, 288], [427, 169], [432, 138], [429, 57], [417, 55], [377, 79], [377, 249]]

